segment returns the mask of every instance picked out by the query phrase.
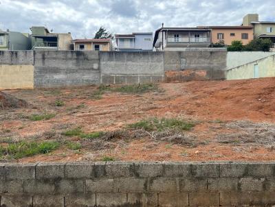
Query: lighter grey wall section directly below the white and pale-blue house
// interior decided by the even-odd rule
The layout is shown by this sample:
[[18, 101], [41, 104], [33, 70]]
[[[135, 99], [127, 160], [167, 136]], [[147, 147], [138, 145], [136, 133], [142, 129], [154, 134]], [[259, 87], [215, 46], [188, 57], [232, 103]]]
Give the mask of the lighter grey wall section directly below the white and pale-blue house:
[[164, 59], [162, 52], [100, 52], [102, 84], [137, 84], [162, 82]]

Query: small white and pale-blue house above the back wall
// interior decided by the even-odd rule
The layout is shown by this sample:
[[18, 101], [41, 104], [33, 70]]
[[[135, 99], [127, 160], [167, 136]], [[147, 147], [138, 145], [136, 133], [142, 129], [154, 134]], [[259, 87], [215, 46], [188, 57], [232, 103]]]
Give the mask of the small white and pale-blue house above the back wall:
[[115, 34], [118, 51], [152, 51], [153, 32]]

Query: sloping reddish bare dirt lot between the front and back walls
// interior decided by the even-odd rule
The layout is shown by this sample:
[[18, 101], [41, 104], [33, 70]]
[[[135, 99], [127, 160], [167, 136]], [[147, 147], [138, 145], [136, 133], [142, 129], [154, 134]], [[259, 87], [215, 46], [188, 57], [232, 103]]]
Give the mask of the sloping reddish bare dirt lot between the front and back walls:
[[[159, 84], [157, 90], [130, 94], [106, 90], [98, 95], [98, 86], [5, 90], [28, 106], [0, 107], [1, 146], [21, 141], [58, 141], [61, 146], [20, 158], [10, 158], [2, 149], [1, 160], [275, 160], [274, 90], [275, 78]], [[45, 117], [36, 121], [34, 114]], [[162, 138], [126, 130], [152, 117], [195, 125]], [[109, 136], [65, 135], [74, 129]], [[68, 142], [78, 147], [66, 147]]]

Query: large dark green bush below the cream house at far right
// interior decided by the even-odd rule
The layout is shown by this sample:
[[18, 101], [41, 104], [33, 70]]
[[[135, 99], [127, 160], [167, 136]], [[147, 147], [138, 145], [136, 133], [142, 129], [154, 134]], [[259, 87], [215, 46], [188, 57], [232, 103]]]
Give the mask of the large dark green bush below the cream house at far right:
[[269, 38], [261, 39], [257, 38], [245, 45], [243, 50], [245, 51], [270, 51], [270, 47], [272, 47], [272, 40]]

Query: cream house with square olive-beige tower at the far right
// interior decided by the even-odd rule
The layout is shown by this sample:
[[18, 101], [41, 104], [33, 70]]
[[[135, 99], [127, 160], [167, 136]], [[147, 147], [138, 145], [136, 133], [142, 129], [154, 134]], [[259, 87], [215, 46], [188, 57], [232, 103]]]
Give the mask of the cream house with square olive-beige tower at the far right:
[[254, 27], [254, 38], [270, 38], [275, 45], [275, 21], [259, 21], [259, 14], [247, 14], [243, 26]]

